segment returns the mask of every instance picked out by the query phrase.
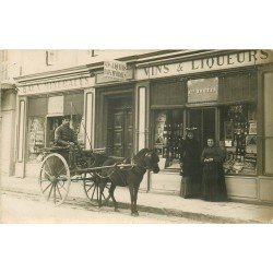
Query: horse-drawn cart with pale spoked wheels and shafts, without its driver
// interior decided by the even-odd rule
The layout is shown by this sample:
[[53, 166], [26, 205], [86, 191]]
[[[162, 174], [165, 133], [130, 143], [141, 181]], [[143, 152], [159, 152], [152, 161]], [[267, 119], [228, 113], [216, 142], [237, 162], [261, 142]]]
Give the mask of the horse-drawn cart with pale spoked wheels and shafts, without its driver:
[[[98, 205], [102, 170], [131, 167], [130, 164], [102, 166], [108, 158], [104, 150], [82, 151], [74, 147], [43, 149], [44, 161], [39, 170], [40, 192], [48, 202], [62, 204], [72, 182], [83, 182], [84, 193], [93, 205]], [[106, 185], [109, 189], [109, 185]], [[107, 193], [108, 194], [108, 193]], [[103, 192], [103, 202], [109, 197]]]

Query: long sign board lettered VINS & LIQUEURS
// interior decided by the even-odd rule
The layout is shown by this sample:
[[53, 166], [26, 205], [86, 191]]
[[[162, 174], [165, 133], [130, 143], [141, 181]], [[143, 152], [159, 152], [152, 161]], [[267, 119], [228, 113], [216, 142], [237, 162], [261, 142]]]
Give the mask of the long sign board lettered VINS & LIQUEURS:
[[199, 73], [213, 70], [257, 66], [273, 62], [273, 50], [246, 50], [211, 56], [171, 64], [150, 66], [136, 70], [136, 80]]

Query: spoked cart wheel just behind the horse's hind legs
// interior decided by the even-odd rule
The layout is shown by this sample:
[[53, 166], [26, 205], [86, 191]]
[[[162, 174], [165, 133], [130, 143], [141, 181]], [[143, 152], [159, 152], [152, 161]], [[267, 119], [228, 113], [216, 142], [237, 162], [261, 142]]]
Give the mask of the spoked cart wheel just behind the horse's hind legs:
[[[82, 175], [82, 179], [85, 195], [87, 197], [92, 205], [97, 206], [99, 199], [99, 178], [92, 173], [87, 173]], [[109, 186], [106, 185], [102, 197], [103, 204], [106, 204], [109, 200], [108, 190]]]

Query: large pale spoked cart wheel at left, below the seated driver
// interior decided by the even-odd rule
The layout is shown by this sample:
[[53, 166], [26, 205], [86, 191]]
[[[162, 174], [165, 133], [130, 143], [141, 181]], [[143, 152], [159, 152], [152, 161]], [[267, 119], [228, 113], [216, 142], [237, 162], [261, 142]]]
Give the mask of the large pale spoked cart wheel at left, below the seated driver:
[[71, 185], [67, 161], [60, 154], [49, 154], [41, 163], [40, 192], [48, 202], [60, 205], [68, 197]]

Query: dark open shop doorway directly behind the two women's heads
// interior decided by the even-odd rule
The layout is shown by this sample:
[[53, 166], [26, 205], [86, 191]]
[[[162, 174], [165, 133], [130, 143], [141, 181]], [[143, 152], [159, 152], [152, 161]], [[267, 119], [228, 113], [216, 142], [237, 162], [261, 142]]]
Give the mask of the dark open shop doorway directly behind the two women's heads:
[[209, 138], [216, 136], [216, 108], [190, 109], [189, 127], [197, 128], [197, 139], [203, 150]]

